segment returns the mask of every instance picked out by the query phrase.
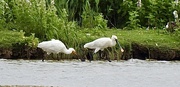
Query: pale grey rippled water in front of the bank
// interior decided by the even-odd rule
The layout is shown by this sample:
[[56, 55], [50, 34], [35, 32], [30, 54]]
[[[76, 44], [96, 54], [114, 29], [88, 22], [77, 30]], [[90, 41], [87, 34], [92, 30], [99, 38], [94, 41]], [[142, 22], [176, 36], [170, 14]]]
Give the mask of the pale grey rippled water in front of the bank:
[[180, 62], [0, 59], [0, 85], [58, 87], [179, 87]]

